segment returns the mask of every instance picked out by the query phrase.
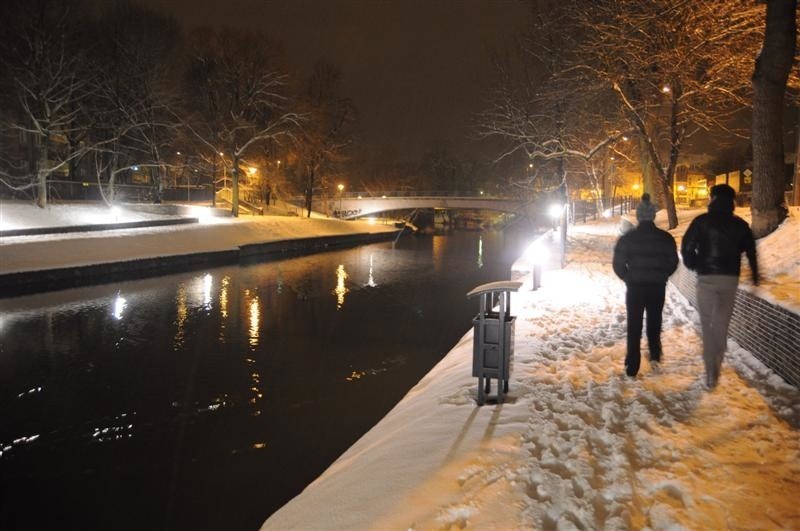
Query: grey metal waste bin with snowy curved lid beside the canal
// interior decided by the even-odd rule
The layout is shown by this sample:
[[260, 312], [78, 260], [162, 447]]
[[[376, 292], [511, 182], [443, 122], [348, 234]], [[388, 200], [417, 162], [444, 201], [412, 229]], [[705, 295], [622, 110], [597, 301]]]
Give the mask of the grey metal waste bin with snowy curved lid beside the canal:
[[508, 392], [516, 320], [511, 315], [511, 292], [517, 291], [520, 286], [522, 282], [490, 282], [467, 293], [468, 298], [480, 296], [480, 311], [472, 320], [472, 375], [478, 378], [480, 406], [486, 402], [492, 390], [492, 378], [497, 380], [498, 402], [502, 402]]

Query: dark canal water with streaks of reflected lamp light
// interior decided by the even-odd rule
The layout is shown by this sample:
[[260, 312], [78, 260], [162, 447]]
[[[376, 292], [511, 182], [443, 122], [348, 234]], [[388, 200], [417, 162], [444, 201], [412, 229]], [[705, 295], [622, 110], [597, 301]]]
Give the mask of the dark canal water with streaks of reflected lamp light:
[[0, 529], [257, 529], [458, 341], [466, 292], [529, 236], [0, 299]]

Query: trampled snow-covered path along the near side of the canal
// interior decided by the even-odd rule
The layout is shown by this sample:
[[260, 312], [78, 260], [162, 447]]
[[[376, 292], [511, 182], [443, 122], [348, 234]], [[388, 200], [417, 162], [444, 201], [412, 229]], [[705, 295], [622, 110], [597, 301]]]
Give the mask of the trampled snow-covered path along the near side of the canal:
[[567, 268], [513, 295], [504, 404], [475, 405], [467, 334], [265, 528], [800, 529], [800, 392], [733, 342], [706, 391], [672, 286], [661, 371], [625, 377], [609, 227], [573, 230]]

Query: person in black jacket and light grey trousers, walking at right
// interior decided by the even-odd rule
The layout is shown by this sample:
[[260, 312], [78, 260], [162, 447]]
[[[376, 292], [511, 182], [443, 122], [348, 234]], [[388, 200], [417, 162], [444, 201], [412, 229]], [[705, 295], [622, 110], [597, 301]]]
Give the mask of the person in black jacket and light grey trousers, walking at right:
[[681, 242], [683, 263], [697, 271], [697, 309], [703, 330], [706, 385], [716, 387], [727, 347], [728, 325], [739, 285], [742, 253], [758, 285], [756, 244], [750, 226], [733, 214], [736, 192], [727, 184], [711, 188], [708, 212], [692, 220]]

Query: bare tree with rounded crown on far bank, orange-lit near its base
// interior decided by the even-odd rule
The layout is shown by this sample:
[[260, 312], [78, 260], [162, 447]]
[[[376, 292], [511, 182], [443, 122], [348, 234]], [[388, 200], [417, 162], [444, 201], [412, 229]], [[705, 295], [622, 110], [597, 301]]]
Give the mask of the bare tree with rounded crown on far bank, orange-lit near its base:
[[189, 41], [185, 76], [187, 127], [232, 177], [231, 210], [239, 215], [241, 164], [270, 143], [290, 139], [299, 124], [286, 110], [287, 79], [279, 46], [257, 32], [201, 29]]

